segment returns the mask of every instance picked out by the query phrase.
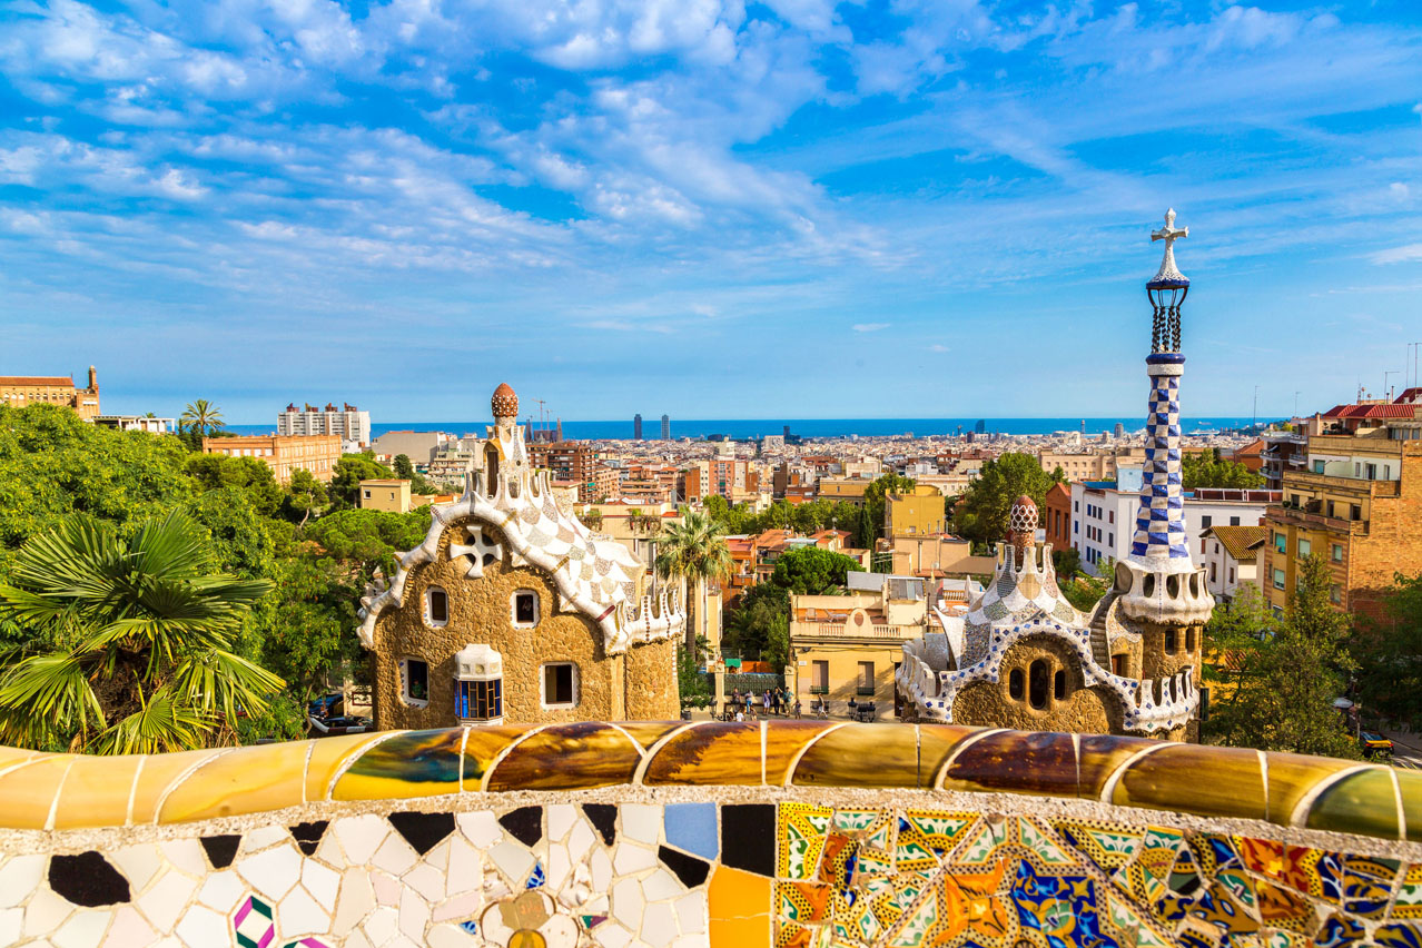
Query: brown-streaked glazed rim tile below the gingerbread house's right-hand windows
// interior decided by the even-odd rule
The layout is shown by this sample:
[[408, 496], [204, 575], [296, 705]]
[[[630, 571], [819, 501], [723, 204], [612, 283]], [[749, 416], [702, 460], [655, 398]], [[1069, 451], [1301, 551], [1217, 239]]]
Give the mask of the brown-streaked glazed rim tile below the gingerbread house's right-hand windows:
[[552, 725], [519, 742], [493, 767], [488, 789], [580, 790], [631, 783], [641, 749], [617, 728], [583, 721]]

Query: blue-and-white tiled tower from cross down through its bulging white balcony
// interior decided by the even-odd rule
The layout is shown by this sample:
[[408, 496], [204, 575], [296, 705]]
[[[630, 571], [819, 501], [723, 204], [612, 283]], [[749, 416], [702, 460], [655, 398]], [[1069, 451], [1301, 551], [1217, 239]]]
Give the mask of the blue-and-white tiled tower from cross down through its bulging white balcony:
[[1203, 570], [1190, 557], [1190, 539], [1185, 530], [1180, 306], [1190, 293], [1190, 280], [1175, 264], [1175, 242], [1189, 233], [1189, 227], [1175, 226], [1173, 209], [1165, 215], [1165, 227], [1150, 233], [1152, 240], [1165, 242], [1165, 259], [1146, 283], [1153, 310], [1150, 355], [1146, 357], [1146, 375], [1150, 377], [1146, 459], [1130, 557], [1116, 567], [1116, 590], [1126, 614], [1160, 625], [1207, 621], [1214, 607]]

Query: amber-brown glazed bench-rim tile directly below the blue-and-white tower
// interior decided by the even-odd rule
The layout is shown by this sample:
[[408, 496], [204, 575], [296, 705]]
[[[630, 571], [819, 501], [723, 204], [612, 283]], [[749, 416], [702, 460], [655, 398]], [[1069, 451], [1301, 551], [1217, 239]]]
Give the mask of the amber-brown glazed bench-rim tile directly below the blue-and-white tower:
[[1111, 802], [1263, 820], [1264, 773], [1257, 750], [1167, 745], [1126, 766]]

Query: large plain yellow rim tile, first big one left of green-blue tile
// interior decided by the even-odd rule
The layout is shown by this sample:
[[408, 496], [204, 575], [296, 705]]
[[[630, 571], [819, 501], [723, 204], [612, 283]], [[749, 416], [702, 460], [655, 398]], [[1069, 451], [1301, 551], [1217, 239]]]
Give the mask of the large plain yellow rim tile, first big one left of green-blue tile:
[[222, 755], [173, 786], [158, 822], [188, 823], [300, 806], [310, 745], [290, 740]]

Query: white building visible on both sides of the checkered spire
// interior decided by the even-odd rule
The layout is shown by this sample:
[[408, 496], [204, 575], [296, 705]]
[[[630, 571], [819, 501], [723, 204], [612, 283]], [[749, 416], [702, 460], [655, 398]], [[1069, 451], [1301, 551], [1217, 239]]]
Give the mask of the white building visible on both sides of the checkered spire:
[[[1121, 466], [1116, 480], [1086, 480], [1071, 485], [1071, 542], [1081, 553], [1082, 569], [1096, 574], [1096, 564], [1111, 557], [1130, 554], [1130, 540], [1140, 509], [1139, 466]], [[1185, 495], [1185, 526], [1190, 551], [1204, 561], [1206, 540], [1200, 536], [1212, 526], [1258, 526], [1264, 507], [1278, 503], [1277, 490], [1240, 490], [1210, 488]], [[1212, 587], [1213, 588], [1213, 587]]]

